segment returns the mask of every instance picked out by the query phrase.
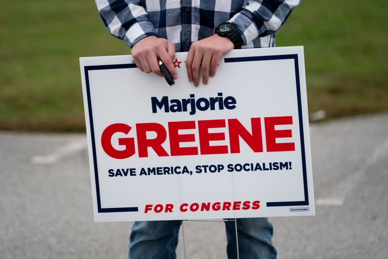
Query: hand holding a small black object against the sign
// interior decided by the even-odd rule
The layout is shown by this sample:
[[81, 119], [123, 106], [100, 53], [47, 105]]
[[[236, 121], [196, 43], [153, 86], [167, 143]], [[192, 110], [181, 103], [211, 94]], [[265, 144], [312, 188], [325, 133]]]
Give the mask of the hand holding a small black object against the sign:
[[171, 41], [156, 36], [148, 36], [139, 40], [133, 46], [131, 54], [140, 70], [163, 76], [158, 64], [160, 59], [173, 78], [178, 79], [177, 70], [172, 62], [175, 57], [175, 45]]

